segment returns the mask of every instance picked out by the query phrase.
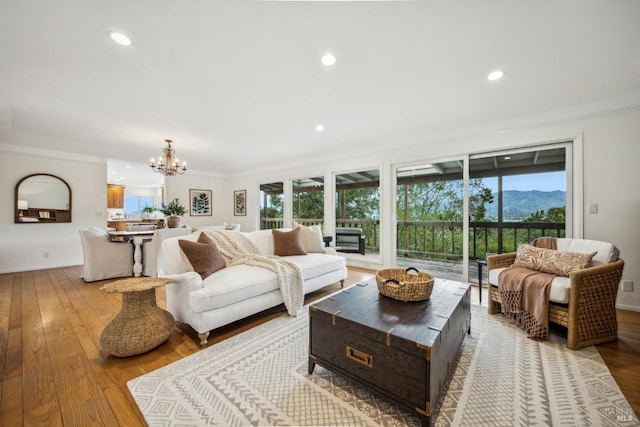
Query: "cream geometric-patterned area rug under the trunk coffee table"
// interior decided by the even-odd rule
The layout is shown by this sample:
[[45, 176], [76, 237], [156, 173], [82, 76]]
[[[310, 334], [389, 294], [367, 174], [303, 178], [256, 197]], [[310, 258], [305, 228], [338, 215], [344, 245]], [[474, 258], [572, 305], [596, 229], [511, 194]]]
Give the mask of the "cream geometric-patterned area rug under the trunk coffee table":
[[[594, 347], [526, 338], [471, 306], [436, 426], [631, 426], [638, 418]], [[150, 426], [419, 426], [414, 413], [316, 366], [308, 317], [282, 317], [128, 383]]]

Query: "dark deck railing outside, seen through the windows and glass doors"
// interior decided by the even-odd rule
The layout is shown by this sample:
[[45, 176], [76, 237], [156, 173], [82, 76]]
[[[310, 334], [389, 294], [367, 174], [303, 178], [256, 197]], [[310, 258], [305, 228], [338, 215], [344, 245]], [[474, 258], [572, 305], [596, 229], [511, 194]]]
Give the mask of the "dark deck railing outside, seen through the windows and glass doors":
[[[303, 225], [322, 225], [322, 219], [298, 219]], [[263, 218], [263, 228], [283, 227], [283, 220]], [[338, 227], [361, 228], [366, 236], [367, 253], [380, 250], [379, 220], [336, 221]], [[461, 221], [398, 221], [397, 255], [406, 258], [436, 258], [462, 260]], [[477, 259], [489, 253], [513, 252], [522, 243], [537, 237], [565, 236], [564, 222], [485, 222], [469, 223], [469, 258]]]

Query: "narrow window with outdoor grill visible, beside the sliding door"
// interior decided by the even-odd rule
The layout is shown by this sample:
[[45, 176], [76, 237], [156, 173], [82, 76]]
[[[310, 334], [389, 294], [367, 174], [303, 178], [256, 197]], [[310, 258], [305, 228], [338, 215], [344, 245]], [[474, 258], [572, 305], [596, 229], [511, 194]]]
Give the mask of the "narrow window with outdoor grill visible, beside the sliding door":
[[[359, 229], [366, 254], [380, 251], [380, 171], [377, 169], [336, 175], [336, 246], [345, 228]], [[339, 249], [340, 250], [340, 249]], [[363, 251], [360, 251], [363, 253]]]

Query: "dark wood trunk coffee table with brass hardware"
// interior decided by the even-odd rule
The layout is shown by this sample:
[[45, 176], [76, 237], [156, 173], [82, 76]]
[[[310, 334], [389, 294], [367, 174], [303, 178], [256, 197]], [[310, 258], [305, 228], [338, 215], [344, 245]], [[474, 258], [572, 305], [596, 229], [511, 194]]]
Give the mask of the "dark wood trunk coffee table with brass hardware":
[[471, 332], [469, 285], [435, 279], [431, 297], [401, 302], [375, 279], [309, 308], [309, 373], [316, 364], [415, 411], [423, 425]]

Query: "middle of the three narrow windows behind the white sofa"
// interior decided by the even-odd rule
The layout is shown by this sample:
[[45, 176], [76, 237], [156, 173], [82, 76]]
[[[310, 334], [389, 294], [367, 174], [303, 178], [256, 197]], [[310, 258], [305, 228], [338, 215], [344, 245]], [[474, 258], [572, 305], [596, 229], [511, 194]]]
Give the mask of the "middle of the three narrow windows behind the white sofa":
[[303, 225], [324, 223], [324, 178], [293, 180], [293, 220]]

